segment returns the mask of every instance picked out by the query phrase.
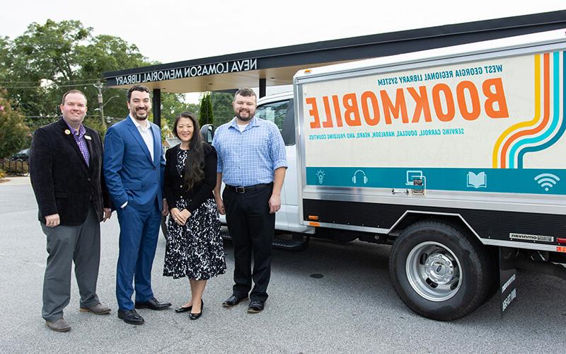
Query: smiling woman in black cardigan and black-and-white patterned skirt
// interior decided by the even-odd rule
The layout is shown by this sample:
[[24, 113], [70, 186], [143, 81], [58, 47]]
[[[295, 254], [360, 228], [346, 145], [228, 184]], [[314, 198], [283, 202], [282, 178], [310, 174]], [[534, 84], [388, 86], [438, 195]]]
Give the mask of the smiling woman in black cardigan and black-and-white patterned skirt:
[[212, 193], [218, 157], [214, 147], [202, 141], [195, 115], [183, 112], [173, 126], [181, 143], [166, 152], [163, 190], [171, 213], [163, 275], [189, 278], [191, 298], [175, 311], [190, 311], [190, 319], [198, 319], [207, 280], [226, 271]]

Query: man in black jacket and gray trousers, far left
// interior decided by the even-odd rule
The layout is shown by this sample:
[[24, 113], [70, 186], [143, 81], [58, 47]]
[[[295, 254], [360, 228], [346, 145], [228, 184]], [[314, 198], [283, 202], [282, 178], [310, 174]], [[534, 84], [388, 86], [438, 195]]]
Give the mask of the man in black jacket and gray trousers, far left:
[[85, 127], [86, 96], [71, 90], [60, 105], [62, 119], [35, 131], [30, 176], [47, 236], [42, 317], [50, 329], [69, 331], [63, 309], [71, 297], [71, 265], [81, 294], [80, 311], [108, 314], [96, 295], [100, 263], [100, 221], [110, 218], [102, 171], [103, 147], [96, 130]]

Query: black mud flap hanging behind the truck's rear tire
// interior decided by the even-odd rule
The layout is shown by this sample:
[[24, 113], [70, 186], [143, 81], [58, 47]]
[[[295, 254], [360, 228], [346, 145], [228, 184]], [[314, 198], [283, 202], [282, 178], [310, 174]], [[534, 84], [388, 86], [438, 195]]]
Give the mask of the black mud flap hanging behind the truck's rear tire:
[[517, 297], [516, 290], [516, 249], [499, 247], [499, 309], [501, 316]]

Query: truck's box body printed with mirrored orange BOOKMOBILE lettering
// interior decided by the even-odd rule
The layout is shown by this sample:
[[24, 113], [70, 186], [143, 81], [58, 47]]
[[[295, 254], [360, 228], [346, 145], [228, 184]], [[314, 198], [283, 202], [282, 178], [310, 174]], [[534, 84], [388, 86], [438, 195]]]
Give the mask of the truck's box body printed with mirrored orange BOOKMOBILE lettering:
[[304, 224], [456, 215], [483, 244], [562, 250], [566, 42], [546, 35], [296, 74]]

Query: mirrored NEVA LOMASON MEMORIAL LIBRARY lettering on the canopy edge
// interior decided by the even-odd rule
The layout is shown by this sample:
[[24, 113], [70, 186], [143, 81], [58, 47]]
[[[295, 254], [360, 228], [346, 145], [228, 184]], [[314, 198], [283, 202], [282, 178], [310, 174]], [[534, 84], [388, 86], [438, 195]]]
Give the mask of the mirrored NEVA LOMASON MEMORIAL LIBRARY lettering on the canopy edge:
[[185, 79], [187, 77], [206, 76], [214, 74], [228, 74], [231, 72], [247, 72], [258, 69], [258, 59], [234, 60], [231, 62], [218, 62], [213, 64], [193, 65], [176, 69], [156, 70], [116, 76], [116, 85], [132, 85], [144, 82]]

